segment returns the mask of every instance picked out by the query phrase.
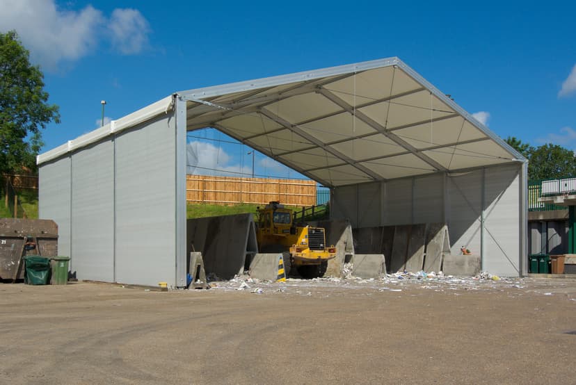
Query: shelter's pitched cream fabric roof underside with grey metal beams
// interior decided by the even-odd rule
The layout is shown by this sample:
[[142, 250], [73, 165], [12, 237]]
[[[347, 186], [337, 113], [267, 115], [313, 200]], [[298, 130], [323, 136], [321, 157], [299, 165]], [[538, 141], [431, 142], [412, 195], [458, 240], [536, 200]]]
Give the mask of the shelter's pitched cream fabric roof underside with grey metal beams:
[[524, 161], [398, 58], [178, 92], [215, 127], [325, 186]]

